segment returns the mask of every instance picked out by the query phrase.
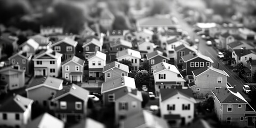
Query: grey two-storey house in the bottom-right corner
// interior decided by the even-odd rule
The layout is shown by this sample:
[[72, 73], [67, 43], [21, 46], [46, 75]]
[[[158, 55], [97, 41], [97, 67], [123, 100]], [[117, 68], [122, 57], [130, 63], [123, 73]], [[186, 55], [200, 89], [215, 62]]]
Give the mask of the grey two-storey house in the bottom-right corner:
[[254, 127], [255, 110], [233, 87], [212, 90], [214, 112], [220, 122], [238, 127]]

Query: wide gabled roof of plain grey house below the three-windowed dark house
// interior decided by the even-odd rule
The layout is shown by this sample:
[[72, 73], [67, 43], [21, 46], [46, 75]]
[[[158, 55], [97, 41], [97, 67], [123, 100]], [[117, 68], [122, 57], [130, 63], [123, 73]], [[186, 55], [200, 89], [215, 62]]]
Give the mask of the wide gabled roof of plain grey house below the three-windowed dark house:
[[198, 68], [196, 70], [193, 70], [192, 73], [194, 74], [195, 77], [197, 77], [197, 76], [203, 74], [207, 70], [213, 70], [217, 73], [220, 73], [222, 75], [225, 75], [225, 76], [229, 77], [229, 75], [224, 70], [220, 70], [220, 69], [213, 68], [213, 67], [210, 67], [210, 66], [204, 66], [203, 68]]

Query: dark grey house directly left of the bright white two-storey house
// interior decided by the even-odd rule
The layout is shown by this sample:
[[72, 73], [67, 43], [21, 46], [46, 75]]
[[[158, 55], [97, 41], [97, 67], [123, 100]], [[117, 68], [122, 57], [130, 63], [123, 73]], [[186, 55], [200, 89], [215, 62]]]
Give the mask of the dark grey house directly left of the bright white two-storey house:
[[19, 66], [19, 69], [25, 70], [26, 74], [31, 73], [31, 66], [32, 66], [32, 54], [27, 52], [20, 51], [18, 53], [13, 54], [11, 57], [8, 58], [9, 63], [11, 65]]

